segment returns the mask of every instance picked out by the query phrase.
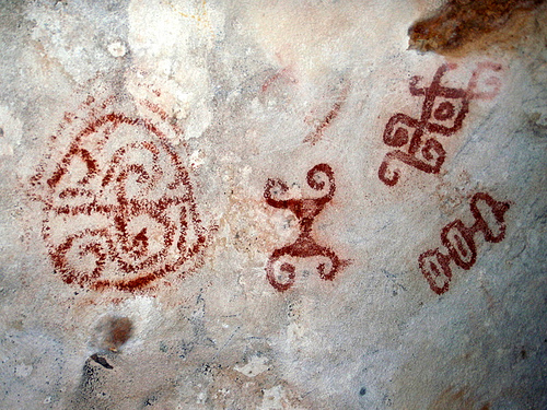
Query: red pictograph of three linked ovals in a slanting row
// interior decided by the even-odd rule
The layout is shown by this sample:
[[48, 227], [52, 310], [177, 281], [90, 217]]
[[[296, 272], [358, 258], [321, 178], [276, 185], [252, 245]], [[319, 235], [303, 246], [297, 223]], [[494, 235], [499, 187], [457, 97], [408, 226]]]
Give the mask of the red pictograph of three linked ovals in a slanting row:
[[[479, 208], [479, 203], [482, 206]], [[485, 210], [490, 212], [496, 221], [496, 232], [492, 232], [493, 226], [489, 222], [493, 222], [484, 213]], [[465, 270], [469, 270], [477, 261], [477, 245], [475, 244], [475, 235], [478, 232], [482, 233], [485, 241], [498, 243], [505, 237], [505, 221], [504, 214], [509, 210], [508, 202], [499, 202], [488, 194], [475, 194], [470, 201], [470, 211], [475, 218], [475, 223], [472, 226], [466, 226], [462, 220], [455, 220], [449, 223], [441, 231], [441, 242], [447, 249], [447, 253], [441, 249], [430, 249], [420, 255], [418, 262], [423, 277], [427, 279], [429, 286], [437, 294], [443, 294], [449, 290], [452, 280], [451, 261]]]

